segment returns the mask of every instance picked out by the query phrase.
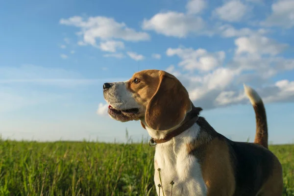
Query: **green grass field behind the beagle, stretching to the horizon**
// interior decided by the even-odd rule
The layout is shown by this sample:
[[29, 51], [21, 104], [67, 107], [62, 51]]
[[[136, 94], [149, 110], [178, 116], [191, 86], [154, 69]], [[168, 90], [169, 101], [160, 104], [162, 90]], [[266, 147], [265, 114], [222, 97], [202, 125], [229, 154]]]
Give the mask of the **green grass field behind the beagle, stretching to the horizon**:
[[[294, 196], [294, 145], [270, 146]], [[0, 140], [1, 196], [155, 196], [147, 144]]]

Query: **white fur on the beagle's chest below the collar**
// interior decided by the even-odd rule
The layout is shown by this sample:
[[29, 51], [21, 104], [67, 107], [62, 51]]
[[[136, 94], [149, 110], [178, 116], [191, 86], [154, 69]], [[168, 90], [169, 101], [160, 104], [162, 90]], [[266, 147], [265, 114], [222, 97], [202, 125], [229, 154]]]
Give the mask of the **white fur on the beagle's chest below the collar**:
[[[184, 133], [169, 142], [158, 144], [155, 151], [154, 182], [157, 195], [163, 196], [206, 196], [206, 186], [201, 168], [195, 156], [188, 153], [187, 144], [198, 134], [199, 126], [194, 124]], [[158, 168], [160, 168], [161, 182]], [[173, 187], [170, 182], [173, 181]], [[157, 186], [161, 184], [161, 187]]]

